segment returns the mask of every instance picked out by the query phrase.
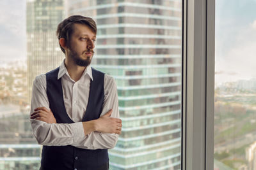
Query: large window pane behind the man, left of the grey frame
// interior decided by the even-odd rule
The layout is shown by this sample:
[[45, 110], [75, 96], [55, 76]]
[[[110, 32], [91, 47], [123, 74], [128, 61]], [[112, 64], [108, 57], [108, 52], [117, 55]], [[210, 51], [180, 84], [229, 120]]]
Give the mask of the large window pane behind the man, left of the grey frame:
[[[65, 57], [56, 29], [70, 15], [95, 19], [92, 66], [116, 81], [123, 127], [109, 169], [181, 169], [182, 0], [27, 0], [15, 15], [5, 1], [4, 25], [22, 28], [26, 41], [19, 39], [18, 61], [11, 43], [12, 55], [0, 58], [0, 170], [40, 167], [42, 146], [28, 116], [32, 84]], [[8, 22], [15, 17], [19, 26]]]

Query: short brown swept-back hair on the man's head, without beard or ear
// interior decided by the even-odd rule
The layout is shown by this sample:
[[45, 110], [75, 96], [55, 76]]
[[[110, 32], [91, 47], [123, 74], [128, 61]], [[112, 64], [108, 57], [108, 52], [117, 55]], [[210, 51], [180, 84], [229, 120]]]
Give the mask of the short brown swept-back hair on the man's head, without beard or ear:
[[[66, 18], [65, 20], [63, 20], [58, 25], [58, 28], [56, 31], [58, 39], [60, 40], [60, 38], [64, 38], [68, 47], [70, 46], [71, 35], [74, 32], [74, 29], [73, 29], [74, 24], [87, 25], [88, 27], [90, 27], [90, 29], [92, 30], [93, 33], [97, 34], [97, 25], [92, 18], [83, 17], [81, 15], [72, 15], [72, 16]], [[59, 43], [59, 45], [60, 45], [60, 43]], [[63, 53], [65, 53], [65, 49], [62, 48], [61, 45], [60, 45], [60, 48], [61, 48], [61, 51]]]

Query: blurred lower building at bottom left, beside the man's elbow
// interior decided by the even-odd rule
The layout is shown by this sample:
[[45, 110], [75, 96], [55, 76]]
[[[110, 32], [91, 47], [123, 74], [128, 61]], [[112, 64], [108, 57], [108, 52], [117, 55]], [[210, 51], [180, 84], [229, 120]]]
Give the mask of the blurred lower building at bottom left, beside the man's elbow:
[[40, 145], [31, 132], [28, 110], [0, 105], [0, 170], [39, 169]]

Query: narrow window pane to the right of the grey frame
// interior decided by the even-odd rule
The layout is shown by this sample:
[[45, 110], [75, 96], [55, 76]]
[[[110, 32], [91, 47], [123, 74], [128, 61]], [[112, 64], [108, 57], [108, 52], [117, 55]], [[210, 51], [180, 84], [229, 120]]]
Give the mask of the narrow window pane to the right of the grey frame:
[[216, 0], [215, 169], [256, 169], [255, 6]]

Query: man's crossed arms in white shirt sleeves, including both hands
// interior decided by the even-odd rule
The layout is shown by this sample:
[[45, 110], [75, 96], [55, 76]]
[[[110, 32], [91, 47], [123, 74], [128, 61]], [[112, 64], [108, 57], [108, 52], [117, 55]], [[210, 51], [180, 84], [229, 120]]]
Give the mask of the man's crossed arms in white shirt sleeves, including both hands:
[[[72, 145], [86, 149], [115, 147], [122, 121], [119, 119], [115, 81], [110, 78], [106, 83], [110, 88], [106, 91], [100, 118], [88, 122], [56, 124], [49, 110], [45, 75], [37, 76], [33, 84], [30, 120], [38, 143], [51, 146]], [[110, 110], [111, 108], [113, 109]]]

